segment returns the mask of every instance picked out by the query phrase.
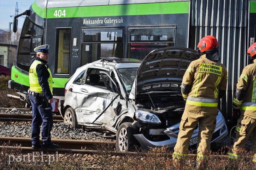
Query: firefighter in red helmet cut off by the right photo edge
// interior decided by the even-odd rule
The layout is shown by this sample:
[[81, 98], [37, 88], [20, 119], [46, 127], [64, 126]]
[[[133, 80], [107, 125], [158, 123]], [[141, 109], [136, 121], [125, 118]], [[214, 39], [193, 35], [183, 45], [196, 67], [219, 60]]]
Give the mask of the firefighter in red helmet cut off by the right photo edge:
[[[239, 148], [245, 148], [252, 134], [250, 151], [254, 152], [253, 161], [256, 162], [256, 43], [253, 43], [247, 55], [251, 57], [252, 64], [247, 65], [237, 82], [237, 90], [233, 99], [233, 116], [237, 117], [237, 126], [233, 134], [234, 145], [229, 158], [239, 160]], [[240, 115], [241, 114], [241, 115]]]

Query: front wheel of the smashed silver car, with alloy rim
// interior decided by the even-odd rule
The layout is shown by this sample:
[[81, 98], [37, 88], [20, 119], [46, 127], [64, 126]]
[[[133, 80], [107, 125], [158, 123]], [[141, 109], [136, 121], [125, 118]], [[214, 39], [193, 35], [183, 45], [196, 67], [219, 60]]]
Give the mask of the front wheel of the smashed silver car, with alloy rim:
[[135, 125], [129, 122], [122, 123], [116, 134], [117, 151], [127, 152], [135, 149], [137, 139], [133, 136], [137, 134]]

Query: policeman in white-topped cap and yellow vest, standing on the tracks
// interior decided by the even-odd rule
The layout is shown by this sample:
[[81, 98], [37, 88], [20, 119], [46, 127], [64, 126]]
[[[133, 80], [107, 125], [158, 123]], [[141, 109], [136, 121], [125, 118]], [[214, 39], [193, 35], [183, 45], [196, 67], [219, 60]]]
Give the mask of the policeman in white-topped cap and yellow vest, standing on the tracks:
[[[52, 107], [52, 76], [48, 67], [49, 45], [38, 46], [34, 49], [37, 57], [29, 69], [29, 99], [32, 106], [31, 141], [32, 148], [57, 148], [51, 143], [53, 126]], [[40, 125], [42, 124], [42, 141], [40, 144]]]

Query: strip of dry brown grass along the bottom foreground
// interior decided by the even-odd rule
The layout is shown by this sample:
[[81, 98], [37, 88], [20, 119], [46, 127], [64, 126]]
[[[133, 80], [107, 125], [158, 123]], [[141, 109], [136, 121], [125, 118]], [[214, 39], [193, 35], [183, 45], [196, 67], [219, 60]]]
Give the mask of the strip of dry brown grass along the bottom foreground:
[[[4, 144], [7, 146], [9, 144]], [[2, 147], [0, 152], [0, 169], [56, 169], [56, 170], [82, 170], [82, 169], [101, 169], [101, 170], [171, 170], [171, 169], [195, 169], [196, 155], [189, 154], [186, 160], [181, 160], [176, 167], [172, 161], [172, 151], [166, 148], [152, 149], [145, 152], [125, 153], [123, 156], [119, 156], [112, 148], [102, 149], [100, 146], [98, 152], [95, 155], [82, 155], [82, 154], [58, 154], [58, 161], [51, 158], [49, 162], [48, 153], [43, 153], [36, 157], [40, 161], [28, 160], [28, 154], [22, 155], [19, 146], [13, 147], [13, 149], [6, 149]], [[40, 152], [39, 152], [40, 153]], [[32, 154], [32, 153], [31, 153]], [[9, 160], [9, 155], [13, 157], [22, 157], [22, 161]], [[255, 169], [255, 163], [252, 162], [252, 153], [246, 150], [241, 150], [240, 161], [231, 160], [227, 154], [216, 156], [213, 153], [208, 154], [207, 160], [201, 163], [199, 169], [204, 170], [234, 170], [234, 169]], [[43, 161], [41, 161], [43, 160]]]

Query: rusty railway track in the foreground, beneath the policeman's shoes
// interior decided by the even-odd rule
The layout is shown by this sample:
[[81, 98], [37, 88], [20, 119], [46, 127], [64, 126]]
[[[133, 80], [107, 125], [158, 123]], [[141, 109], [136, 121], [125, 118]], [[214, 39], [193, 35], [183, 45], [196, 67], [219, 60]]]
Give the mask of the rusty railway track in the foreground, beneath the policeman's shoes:
[[[57, 149], [32, 149], [30, 138], [14, 138], [14, 137], [0, 137], [1, 143], [7, 143], [0, 146], [0, 148], [9, 148], [19, 147], [21, 153], [27, 154], [32, 152], [43, 152], [54, 154], [56, 152], [60, 153], [80, 153], [80, 154], [103, 154], [102, 152], [109, 152], [111, 155], [125, 155], [125, 154], [146, 154], [147, 152], [118, 152], [115, 149], [115, 142], [108, 141], [85, 141], [85, 140], [61, 140], [61, 139], [52, 139], [51, 141], [54, 144], [58, 144], [59, 148]], [[216, 157], [225, 157], [223, 155], [223, 149], [228, 149], [227, 147], [218, 147], [214, 146], [213, 149], [220, 149], [222, 154], [215, 154], [212, 156]], [[166, 153], [169, 154], [169, 153]], [[196, 153], [190, 153], [191, 155], [196, 155]], [[172, 152], [170, 152], [172, 155]]]

